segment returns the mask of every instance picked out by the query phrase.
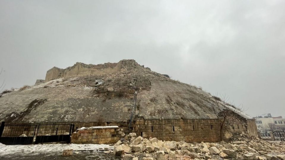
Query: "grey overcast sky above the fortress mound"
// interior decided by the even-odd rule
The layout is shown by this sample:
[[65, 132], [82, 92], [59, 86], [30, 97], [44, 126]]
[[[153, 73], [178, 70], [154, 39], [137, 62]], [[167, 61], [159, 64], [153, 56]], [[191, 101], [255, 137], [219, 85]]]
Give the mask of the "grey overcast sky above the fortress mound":
[[285, 1], [0, 0], [5, 89], [53, 66], [134, 59], [226, 94], [250, 116], [285, 116]]

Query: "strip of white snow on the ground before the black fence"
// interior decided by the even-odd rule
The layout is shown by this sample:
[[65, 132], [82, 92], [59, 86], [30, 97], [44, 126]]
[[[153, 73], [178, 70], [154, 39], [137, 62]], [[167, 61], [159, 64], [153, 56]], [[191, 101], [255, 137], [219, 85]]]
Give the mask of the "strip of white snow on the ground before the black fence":
[[105, 144], [37, 144], [37, 145], [3, 145], [0, 143], [0, 155], [9, 154], [62, 154], [65, 149], [73, 149], [73, 151], [94, 151], [103, 149], [113, 149], [113, 146]]

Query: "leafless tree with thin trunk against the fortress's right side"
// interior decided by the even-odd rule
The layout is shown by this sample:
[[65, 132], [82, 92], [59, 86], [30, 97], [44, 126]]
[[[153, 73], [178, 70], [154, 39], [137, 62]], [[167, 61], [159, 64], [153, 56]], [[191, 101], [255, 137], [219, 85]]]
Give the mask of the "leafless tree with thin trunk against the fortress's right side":
[[241, 108], [237, 108], [233, 105], [233, 102], [229, 102], [229, 97], [226, 95], [220, 95], [221, 98], [213, 96], [215, 99], [215, 103], [212, 104], [212, 108], [214, 110], [215, 115], [220, 119], [220, 140], [223, 140], [223, 128], [224, 124], [231, 116], [231, 114], [236, 111], [240, 111]]

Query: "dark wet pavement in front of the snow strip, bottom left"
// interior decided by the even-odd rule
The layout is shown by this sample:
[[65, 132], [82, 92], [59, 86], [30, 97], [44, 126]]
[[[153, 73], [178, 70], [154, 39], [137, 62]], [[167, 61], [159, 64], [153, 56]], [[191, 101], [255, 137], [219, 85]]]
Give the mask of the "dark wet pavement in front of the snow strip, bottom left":
[[84, 152], [73, 152], [72, 156], [61, 156], [61, 154], [9, 154], [5, 156], [0, 155], [1, 160], [51, 160], [51, 159], [66, 159], [66, 160], [121, 160], [121, 157], [114, 156], [111, 154], [105, 154], [100, 151], [84, 151]]

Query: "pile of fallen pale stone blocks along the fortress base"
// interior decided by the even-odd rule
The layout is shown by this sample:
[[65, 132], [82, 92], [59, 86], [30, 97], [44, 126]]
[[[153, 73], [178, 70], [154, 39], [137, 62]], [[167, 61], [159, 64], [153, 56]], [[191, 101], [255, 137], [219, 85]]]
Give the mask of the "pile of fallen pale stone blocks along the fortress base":
[[285, 160], [285, 143], [264, 141], [244, 132], [233, 135], [227, 142], [219, 143], [162, 141], [151, 137], [137, 137], [136, 133], [130, 133], [114, 144], [113, 154], [121, 156], [123, 160]]

